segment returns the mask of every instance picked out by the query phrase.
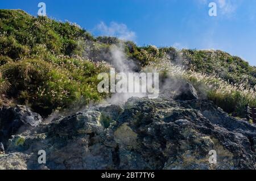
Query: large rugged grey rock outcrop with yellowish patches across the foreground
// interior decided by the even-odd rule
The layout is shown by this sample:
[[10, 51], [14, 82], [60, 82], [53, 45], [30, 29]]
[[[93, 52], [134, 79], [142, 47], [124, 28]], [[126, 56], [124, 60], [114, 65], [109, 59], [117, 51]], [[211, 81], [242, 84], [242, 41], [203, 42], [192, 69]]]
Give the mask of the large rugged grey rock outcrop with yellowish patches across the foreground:
[[255, 125], [208, 100], [131, 98], [13, 134], [0, 169], [256, 169], [255, 140]]

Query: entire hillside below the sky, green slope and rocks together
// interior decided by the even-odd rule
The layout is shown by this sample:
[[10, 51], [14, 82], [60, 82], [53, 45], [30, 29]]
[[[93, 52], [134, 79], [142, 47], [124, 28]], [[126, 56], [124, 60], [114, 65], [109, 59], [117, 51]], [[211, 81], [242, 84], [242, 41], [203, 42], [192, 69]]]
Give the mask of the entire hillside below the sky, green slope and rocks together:
[[[98, 92], [97, 75], [120, 62], [158, 71], [159, 98]], [[256, 169], [256, 126], [243, 119], [255, 73], [220, 50], [138, 47], [0, 10], [0, 169]]]

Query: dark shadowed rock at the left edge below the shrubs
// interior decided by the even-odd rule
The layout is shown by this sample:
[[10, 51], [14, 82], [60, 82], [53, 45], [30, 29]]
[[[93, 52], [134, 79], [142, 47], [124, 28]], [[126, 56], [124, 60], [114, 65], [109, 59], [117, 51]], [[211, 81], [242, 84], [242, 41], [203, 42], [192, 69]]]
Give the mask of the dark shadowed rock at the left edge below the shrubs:
[[41, 121], [42, 117], [26, 106], [2, 107], [0, 109], [0, 142], [5, 144], [11, 135], [22, 132], [28, 127], [36, 127]]

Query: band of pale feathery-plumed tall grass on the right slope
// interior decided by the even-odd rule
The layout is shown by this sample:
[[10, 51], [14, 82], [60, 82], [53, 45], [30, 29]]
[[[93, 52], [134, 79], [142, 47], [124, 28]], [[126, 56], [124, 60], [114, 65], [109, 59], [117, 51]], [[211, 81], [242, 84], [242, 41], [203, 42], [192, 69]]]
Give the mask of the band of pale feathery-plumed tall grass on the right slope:
[[164, 56], [148, 66], [165, 72], [172, 79], [184, 79], [193, 84], [201, 98], [212, 100], [218, 107], [228, 113], [245, 116], [246, 105], [256, 106], [256, 86], [251, 87], [248, 82], [230, 83], [217, 74], [199, 73], [174, 65]]

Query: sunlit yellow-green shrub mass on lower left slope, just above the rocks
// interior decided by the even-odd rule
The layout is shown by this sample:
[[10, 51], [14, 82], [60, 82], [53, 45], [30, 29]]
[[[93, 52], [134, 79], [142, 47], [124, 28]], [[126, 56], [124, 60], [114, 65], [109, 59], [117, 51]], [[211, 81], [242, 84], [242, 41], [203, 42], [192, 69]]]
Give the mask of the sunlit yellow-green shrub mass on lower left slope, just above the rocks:
[[105, 71], [104, 66], [76, 59], [59, 62], [63, 66], [37, 59], [3, 65], [3, 78], [11, 83], [8, 95], [42, 115], [104, 98], [97, 91], [97, 74]]

